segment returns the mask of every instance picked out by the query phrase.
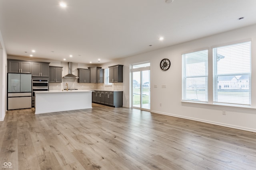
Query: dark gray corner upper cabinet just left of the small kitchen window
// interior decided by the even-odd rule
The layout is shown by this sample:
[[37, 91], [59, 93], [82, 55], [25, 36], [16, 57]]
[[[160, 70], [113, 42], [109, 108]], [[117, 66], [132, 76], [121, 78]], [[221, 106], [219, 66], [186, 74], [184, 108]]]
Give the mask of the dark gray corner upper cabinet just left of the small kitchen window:
[[90, 69], [91, 83], [104, 83], [104, 69], [101, 67], [88, 67]]

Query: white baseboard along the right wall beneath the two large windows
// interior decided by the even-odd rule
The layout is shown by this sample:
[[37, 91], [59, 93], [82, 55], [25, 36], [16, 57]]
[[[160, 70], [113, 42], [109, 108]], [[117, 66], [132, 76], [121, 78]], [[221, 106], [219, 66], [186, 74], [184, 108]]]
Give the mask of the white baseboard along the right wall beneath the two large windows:
[[194, 120], [194, 121], [200, 121], [200, 122], [204, 122], [204, 123], [210, 123], [210, 124], [213, 124], [213, 125], [220, 125], [220, 126], [224, 126], [224, 127], [230, 127], [230, 128], [233, 128], [233, 129], [240, 129], [240, 130], [244, 130], [244, 131], [256, 132], [256, 129], [241, 127], [241, 126], [236, 126], [236, 125], [229, 125], [229, 124], [219, 123], [219, 122], [215, 122], [215, 121], [208, 121], [208, 120], [204, 120], [204, 119], [196, 119], [194, 117], [180, 116], [180, 115], [175, 115], [175, 114], [171, 114], [171, 113], [164, 113], [164, 112], [159, 112], [159, 111], [154, 111], [154, 110], [151, 110], [150, 112], [158, 113], [158, 114], [162, 114], [162, 115], [173, 116], [173, 117], [184, 118], [184, 119], [189, 119], [189, 120]]

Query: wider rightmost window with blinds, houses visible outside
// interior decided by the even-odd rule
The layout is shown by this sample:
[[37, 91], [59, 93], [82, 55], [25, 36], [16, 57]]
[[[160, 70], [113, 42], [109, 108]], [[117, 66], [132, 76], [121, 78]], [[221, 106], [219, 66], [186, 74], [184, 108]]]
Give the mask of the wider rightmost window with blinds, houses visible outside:
[[250, 52], [251, 41], [213, 48], [213, 102], [251, 104]]

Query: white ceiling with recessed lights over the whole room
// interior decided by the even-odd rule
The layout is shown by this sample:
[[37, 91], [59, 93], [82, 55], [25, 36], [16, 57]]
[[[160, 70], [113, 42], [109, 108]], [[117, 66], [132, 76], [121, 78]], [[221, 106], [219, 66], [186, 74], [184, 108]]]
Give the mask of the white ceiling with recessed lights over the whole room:
[[63, 1], [0, 0], [8, 55], [100, 64], [256, 23], [256, 0]]

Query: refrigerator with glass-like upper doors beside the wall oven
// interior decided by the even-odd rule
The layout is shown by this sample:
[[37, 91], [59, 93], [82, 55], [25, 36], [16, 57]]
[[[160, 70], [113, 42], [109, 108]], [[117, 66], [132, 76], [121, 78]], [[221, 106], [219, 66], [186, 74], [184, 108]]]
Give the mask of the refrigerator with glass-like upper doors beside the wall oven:
[[31, 74], [8, 73], [7, 109], [31, 108]]

